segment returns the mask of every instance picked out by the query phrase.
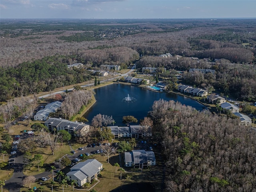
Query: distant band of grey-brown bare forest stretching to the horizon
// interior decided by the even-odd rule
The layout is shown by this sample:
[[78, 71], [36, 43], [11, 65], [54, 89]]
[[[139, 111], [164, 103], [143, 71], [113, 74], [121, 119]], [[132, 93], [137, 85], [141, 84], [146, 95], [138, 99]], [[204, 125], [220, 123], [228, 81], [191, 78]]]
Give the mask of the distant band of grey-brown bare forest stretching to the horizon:
[[[94, 20], [92, 25], [92, 21], [89, 21], [90, 24], [86, 24], [86, 21], [76, 23], [76, 27], [72, 25], [72, 31], [64, 27], [70, 22], [72, 24], [72, 21], [63, 22], [63, 27], [59, 28], [45, 22], [39, 29], [33, 26], [31, 29], [26, 27], [27, 30], [20, 30], [23, 25], [29, 25], [26, 22], [22, 25], [17, 21], [16, 27], [8, 25], [9, 21], [1, 22], [0, 34], [4, 37], [0, 39], [1, 66], [17, 66], [22, 62], [56, 54], [82, 56], [85, 60], [87, 54], [94, 54], [94, 58], [91, 58], [98, 62], [104, 57], [104, 54], [101, 56], [97, 53], [99, 49], [107, 50], [114, 62], [125, 62], [127, 57], [134, 57], [136, 52], [153, 55], [171, 52], [187, 57], [225, 58], [240, 63], [255, 61], [256, 26], [250, 19], [223, 19], [214, 23], [208, 20], [130, 20], [127, 27], [122, 22], [112, 26], [111, 21], [103, 26], [100, 21]], [[248, 24], [250, 28], [245, 27]], [[82, 33], [86, 28], [93, 32]], [[118, 33], [123, 35], [113, 35]], [[82, 35], [101, 38], [71, 38], [76, 34], [80, 34], [79, 38]], [[72, 40], [60, 37], [70, 37]], [[131, 53], [122, 54], [124, 48], [130, 48]], [[115, 54], [118, 57], [115, 58]]]

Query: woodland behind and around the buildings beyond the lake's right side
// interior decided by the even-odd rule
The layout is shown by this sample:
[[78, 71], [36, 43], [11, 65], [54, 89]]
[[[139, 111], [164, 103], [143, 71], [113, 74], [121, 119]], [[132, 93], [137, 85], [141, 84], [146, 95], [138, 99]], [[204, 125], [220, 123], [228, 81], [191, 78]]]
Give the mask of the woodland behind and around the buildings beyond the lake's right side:
[[[206, 88], [211, 85], [215, 90], [223, 94], [232, 94], [240, 100], [256, 100], [256, 67], [254, 65], [230, 64], [230, 61], [221, 59], [216, 63], [206, 60], [194, 60], [192, 58], [176, 57], [162, 58], [148, 56], [136, 62], [136, 68], [142, 67], [165, 67], [172, 72], [172, 69], [186, 71], [183, 75], [184, 82]], [[189, 73], [190, 68], [214, 69], [215, 74], [202, 74], [198, 72]], [[165, 74], [161, 74], [161, 76]]]

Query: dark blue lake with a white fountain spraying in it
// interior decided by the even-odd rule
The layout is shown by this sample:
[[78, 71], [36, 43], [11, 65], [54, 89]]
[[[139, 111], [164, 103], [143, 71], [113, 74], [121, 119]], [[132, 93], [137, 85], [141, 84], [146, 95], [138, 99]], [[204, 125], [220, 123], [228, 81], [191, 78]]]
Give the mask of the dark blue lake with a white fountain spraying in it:
[[[154, 101], [159, 99], [179, 101], [181, 104], [192, 106], [196, 110], [202, 110], [204, 105], [199, 102], [178, 94], [166, 92], [153, 92], [144, 88], [124, 84], [111, 84], [94, 89], [96, 103], [84, 114], [84, 117], [91, 123], [92, 118], [97, 114], [112, 116], [117, 126], [125, 126], [122, 123], [123, 116], [134, 116], [141, 119], [147, 116]], [[131, 98], [126, 101], [125, 98]]]

